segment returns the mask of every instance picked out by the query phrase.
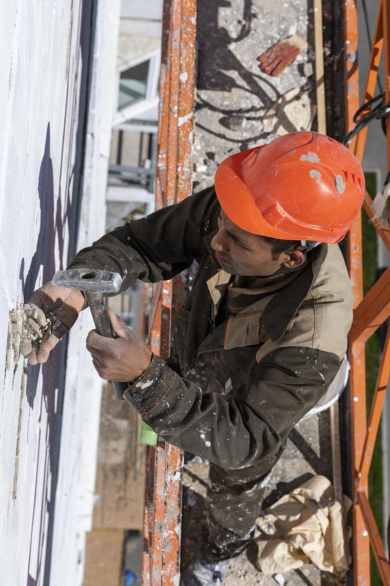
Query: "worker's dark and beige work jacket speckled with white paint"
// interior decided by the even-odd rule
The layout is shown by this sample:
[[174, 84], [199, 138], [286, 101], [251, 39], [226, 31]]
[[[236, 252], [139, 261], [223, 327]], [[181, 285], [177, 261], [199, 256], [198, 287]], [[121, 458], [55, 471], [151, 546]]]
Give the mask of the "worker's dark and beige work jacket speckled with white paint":
[[197, 261], [172, 326], [181, 370], [154, 355], [124, 397], [171, 444], [224, 469], [256, 466], [260, 475], [336, 376], [353, 294], [339, 247], [321, 244], [296, 275], [218, 319], [231, 280], [210, 247], [219, 211], [215, 189], [205, 189], [129, 220], [68, 268], [119, 272], [125, 291], [137, 279], [169, 280]]

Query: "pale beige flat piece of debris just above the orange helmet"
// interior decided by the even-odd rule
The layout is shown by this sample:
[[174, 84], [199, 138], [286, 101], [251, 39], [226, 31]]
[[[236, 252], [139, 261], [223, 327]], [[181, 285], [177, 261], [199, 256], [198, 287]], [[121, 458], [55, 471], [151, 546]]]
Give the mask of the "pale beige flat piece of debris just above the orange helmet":
[[[307, 93], [299, 96], [300, 92], [299, 87], [294, 87], [267, 110], [263, 117], [264, 132], [272, 132], [272, 134], [282, 136], [287, 132], [310, 130], [316, 114], [316, 106], [310, 103]], [[301, 157], [302, 160], [306, 159]]]

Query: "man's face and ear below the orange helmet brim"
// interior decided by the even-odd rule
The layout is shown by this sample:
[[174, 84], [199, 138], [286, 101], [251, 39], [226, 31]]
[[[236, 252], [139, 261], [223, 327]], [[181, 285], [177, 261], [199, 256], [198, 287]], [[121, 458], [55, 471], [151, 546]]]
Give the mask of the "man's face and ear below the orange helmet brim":
[[299, 248], [291, 248], [274, 258], [270, 244], [234, 224], [223, 210], [211, 246], [220, 267], [232, 275], [268, 277], [282, 266], [295, 268], [305, 263], [305, 255]]

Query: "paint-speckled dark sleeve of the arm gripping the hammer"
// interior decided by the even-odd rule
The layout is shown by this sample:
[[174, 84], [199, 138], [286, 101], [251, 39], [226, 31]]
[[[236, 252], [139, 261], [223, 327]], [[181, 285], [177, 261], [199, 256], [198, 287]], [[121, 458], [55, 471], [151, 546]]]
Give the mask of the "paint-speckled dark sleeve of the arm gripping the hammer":
[[[270, 469], [294, 425], [325, 393], [339, 370], [336, 355], [282, 347], [250, 369], [245, 400], [202, 393], [154, 356], [124, 397], [165, 440], [224, 469], [264, 462]], [[133, 395], [142, 400], [134, 400]], [[268, 465], [267, 465], [268, 462]]]

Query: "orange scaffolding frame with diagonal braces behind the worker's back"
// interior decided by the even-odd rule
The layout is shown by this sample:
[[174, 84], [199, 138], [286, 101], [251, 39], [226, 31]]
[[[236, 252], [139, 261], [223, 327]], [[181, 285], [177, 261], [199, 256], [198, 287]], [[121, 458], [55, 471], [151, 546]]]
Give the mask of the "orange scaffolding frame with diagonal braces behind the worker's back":
[[[358, 110], [358, 62], [357, 62], [357, 6], [355, 0], [344, 0], [344, 73], [346, 90], [346, 132], [354, 127], [353, 117]], [[381, 0], [363, 104], [374, 97], [378, 80], [378, 69], [384, 52], [385, 102], [390, 101], [390, 0]], [[363, 114], [368, 113], [365, 108]], [[390, 169], [390, 120], [386, 116], [387, 164]], [[348, 147], [361, 162], [363, 159], [367, 127], [354, 137]], [[364, 209], [368, 217], [374, 217], [370, 195], [366, 192]], [[386, 248], [390, 251], [390, 232], [377, 222], [373, 222]], [[378, 435], [386, 387], [390, 375], [390, 329], [386, 336], [384, 350], [379, 366], [377, 384], [372, 400], [371, 412], [367, 421], [365, 398], [365, 342], [377, 331], [390, 315], [390, 268], [387, 268], [370, 291], [363, 297], [363, 257], [362, 257], [361, 213], [356, 218], [348, 235], [348, 269], [355, 295], [354, 320], [349, 334], [350, 353], [350, 404], [351, 404], [351, 452], [353, 475], [353, 563], [354, 584], [370, 584], [370, 544], [375, 561], [384, 584], [390, 585], [390, 564], [385, 548], [368, 501], [368, 473], [375, 440]]]

